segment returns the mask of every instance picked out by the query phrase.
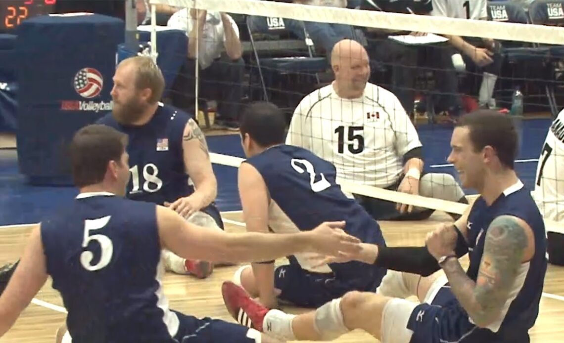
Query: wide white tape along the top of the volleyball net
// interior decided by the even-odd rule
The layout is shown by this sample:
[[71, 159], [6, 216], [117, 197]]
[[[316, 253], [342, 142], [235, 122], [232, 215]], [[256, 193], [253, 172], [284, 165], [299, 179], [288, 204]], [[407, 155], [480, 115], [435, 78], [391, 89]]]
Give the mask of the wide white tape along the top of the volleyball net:
[[315, 21], [320, 23], [351, 24], [368, 28], [460, 35], [503, 41], [564, 44], [564, 28], [556, 26], [452, 19], [263, 0], [150, 0], [150, 3], [306, 21], [315, 18]]

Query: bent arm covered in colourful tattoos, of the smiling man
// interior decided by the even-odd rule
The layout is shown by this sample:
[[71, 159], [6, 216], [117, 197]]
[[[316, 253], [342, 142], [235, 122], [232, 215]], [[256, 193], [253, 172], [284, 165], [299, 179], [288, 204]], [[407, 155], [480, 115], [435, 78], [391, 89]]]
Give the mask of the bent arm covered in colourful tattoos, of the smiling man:
[[517, 219], [499, 216], [487, 230], [476, 282], [457, 260], [443, 265], [452, 292], [477, 326], [486, 327], [499, 317], [518, 277], [527, 242], [525, 228]]

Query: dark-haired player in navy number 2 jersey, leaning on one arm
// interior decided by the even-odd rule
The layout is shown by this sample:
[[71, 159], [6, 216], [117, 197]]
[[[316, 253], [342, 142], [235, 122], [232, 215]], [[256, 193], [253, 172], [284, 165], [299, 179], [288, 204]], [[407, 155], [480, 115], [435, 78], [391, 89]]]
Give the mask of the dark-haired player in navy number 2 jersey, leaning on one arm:
[[[248, 159], [239, 168], [239, 193], [248, 231], [299, 232], [341, 218], [350, 235], [385, 246], [378, 223], [335, 183], [333, 164], [284, 144], [287, 123], [276, 105], [250, 104], [240, 123]], [[276, 308], [278, 299], [316, 307], [348, 291], [374, 292], [386, 273], [358, 261], [313, 268], [307, 254], [288, 259], [289, 264], [277, 268], [274, 261], [243, 266], [234, 280], [270, 308]]]

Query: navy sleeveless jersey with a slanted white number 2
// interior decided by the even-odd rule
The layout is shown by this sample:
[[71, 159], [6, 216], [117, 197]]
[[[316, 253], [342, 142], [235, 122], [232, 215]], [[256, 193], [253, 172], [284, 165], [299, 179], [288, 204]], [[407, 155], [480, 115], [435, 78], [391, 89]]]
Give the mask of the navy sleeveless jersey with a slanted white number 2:
[[[365, 243], [384, 245], [380, 226], [360, 204], [347, 198], [335, 182], [332, 163], [309, 150], [277, 145], [246, 160], [257, 169], [270, 195], [268, 226], [275, 233], [311, 230], [324, 221], [346, 221], [345, 231]], [[385, 269], [362, 262], [312, 267], [307, 254], [289, 257], [290, 264], [319, 273], [334, 273], [338, 279], [363, 279], [380, 284]], [[374, 286], [374, 285], [372, 285]]]

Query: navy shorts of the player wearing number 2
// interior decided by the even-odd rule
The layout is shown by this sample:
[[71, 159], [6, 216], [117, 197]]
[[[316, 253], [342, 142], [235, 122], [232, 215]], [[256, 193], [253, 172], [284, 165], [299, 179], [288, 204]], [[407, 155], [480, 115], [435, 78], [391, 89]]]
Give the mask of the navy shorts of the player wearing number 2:
[[318, 308], [357, 288], [332, 273], [313, 273], [294, 264], [276, 268], [274, 287], [281, 290], [278, 299], [303, 308]]

